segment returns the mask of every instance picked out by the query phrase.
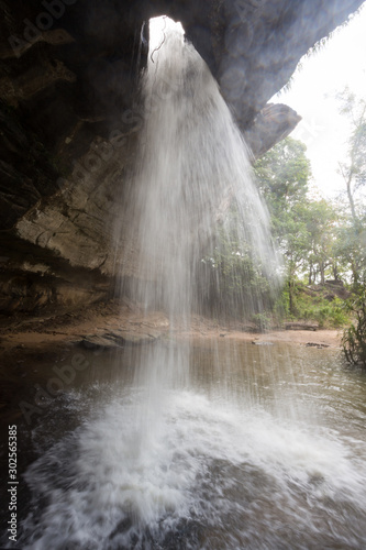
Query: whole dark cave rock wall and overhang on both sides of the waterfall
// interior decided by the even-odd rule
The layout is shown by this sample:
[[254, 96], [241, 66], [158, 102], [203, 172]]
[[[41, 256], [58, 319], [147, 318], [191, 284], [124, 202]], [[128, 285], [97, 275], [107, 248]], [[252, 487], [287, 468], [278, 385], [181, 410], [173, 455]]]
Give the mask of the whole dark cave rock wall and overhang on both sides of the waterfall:
[[138, 275], [133, 243], [123, 239], [123, 197], [142, 121], [137, 77], [146, 62], [149, 18], [167, 14], [182, 22], [256, 157], [300, 120], [267, 101], [308, 48], [361, 3], [2, 0], [2, 310], [73, 304], [70, 286], [79, 293], [74, 304], [107, 296], [118, 220], [122, 275]]

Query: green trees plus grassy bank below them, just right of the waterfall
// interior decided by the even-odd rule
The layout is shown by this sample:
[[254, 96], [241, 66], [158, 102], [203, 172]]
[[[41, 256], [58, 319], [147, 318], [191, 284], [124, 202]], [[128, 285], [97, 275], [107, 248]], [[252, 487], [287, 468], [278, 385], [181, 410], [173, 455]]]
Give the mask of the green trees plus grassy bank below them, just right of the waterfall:
[[[275, 317], [313, 320], [320, 327], [346, 324], [343, 300], [330, 297], [324, 285], [326, 278], [340, 282], [354, 260], [354, 249], [340, 242], [348, 217], [337, 205], [309, 197], [311, 169], [301, 142], [288, 138], [277, 144], [256, 163], [255, 174], [286, 261], [286, 285], [274, 304]], [[308, 285], [320, 284], [317, 292], [307, 290], [304, 278]]]

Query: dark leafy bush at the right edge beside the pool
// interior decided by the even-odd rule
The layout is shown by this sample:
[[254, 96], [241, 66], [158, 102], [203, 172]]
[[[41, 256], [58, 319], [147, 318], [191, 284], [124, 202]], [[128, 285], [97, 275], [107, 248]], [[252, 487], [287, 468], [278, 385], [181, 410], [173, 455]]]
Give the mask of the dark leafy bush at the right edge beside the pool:
[[365, 288], [358, 298], [350, 305], [355, 320], [343, 332], [342, 346], [345, 359], [353, 365], [366, 369], [366, 293]]

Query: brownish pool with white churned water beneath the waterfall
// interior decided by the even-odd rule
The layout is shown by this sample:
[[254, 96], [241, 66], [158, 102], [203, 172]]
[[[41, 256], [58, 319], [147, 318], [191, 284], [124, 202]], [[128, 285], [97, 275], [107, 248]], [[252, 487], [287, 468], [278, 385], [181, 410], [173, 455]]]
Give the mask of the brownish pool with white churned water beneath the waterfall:
[[366, 377], [339, 351], [197, 341], [158, 391], [148, 348], [82, 353], [19, 420], [21, 548], [366, 548]]

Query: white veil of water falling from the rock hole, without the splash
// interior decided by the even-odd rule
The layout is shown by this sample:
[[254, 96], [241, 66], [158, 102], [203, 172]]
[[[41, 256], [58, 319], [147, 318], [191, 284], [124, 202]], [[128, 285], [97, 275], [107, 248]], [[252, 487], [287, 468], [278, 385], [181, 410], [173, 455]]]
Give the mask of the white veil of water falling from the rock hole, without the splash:
[[173, 337], [177, 320], [189, 328], [198, 308], [208, 282], [197, 285], [197, 265], [203, 251], [210, 255], [210, 240], [218, 224], [224, 227], [232, 201], [239, 237], [255, 251], [254, 261], [273, 272], [278, 262], [244, 139], [181, 25], [164, 19], [163, 28], [160, 18], [151, 21], [144, 124], [127, 202], [138, 256], [132, 297], [145, 310], [165, 310]]

